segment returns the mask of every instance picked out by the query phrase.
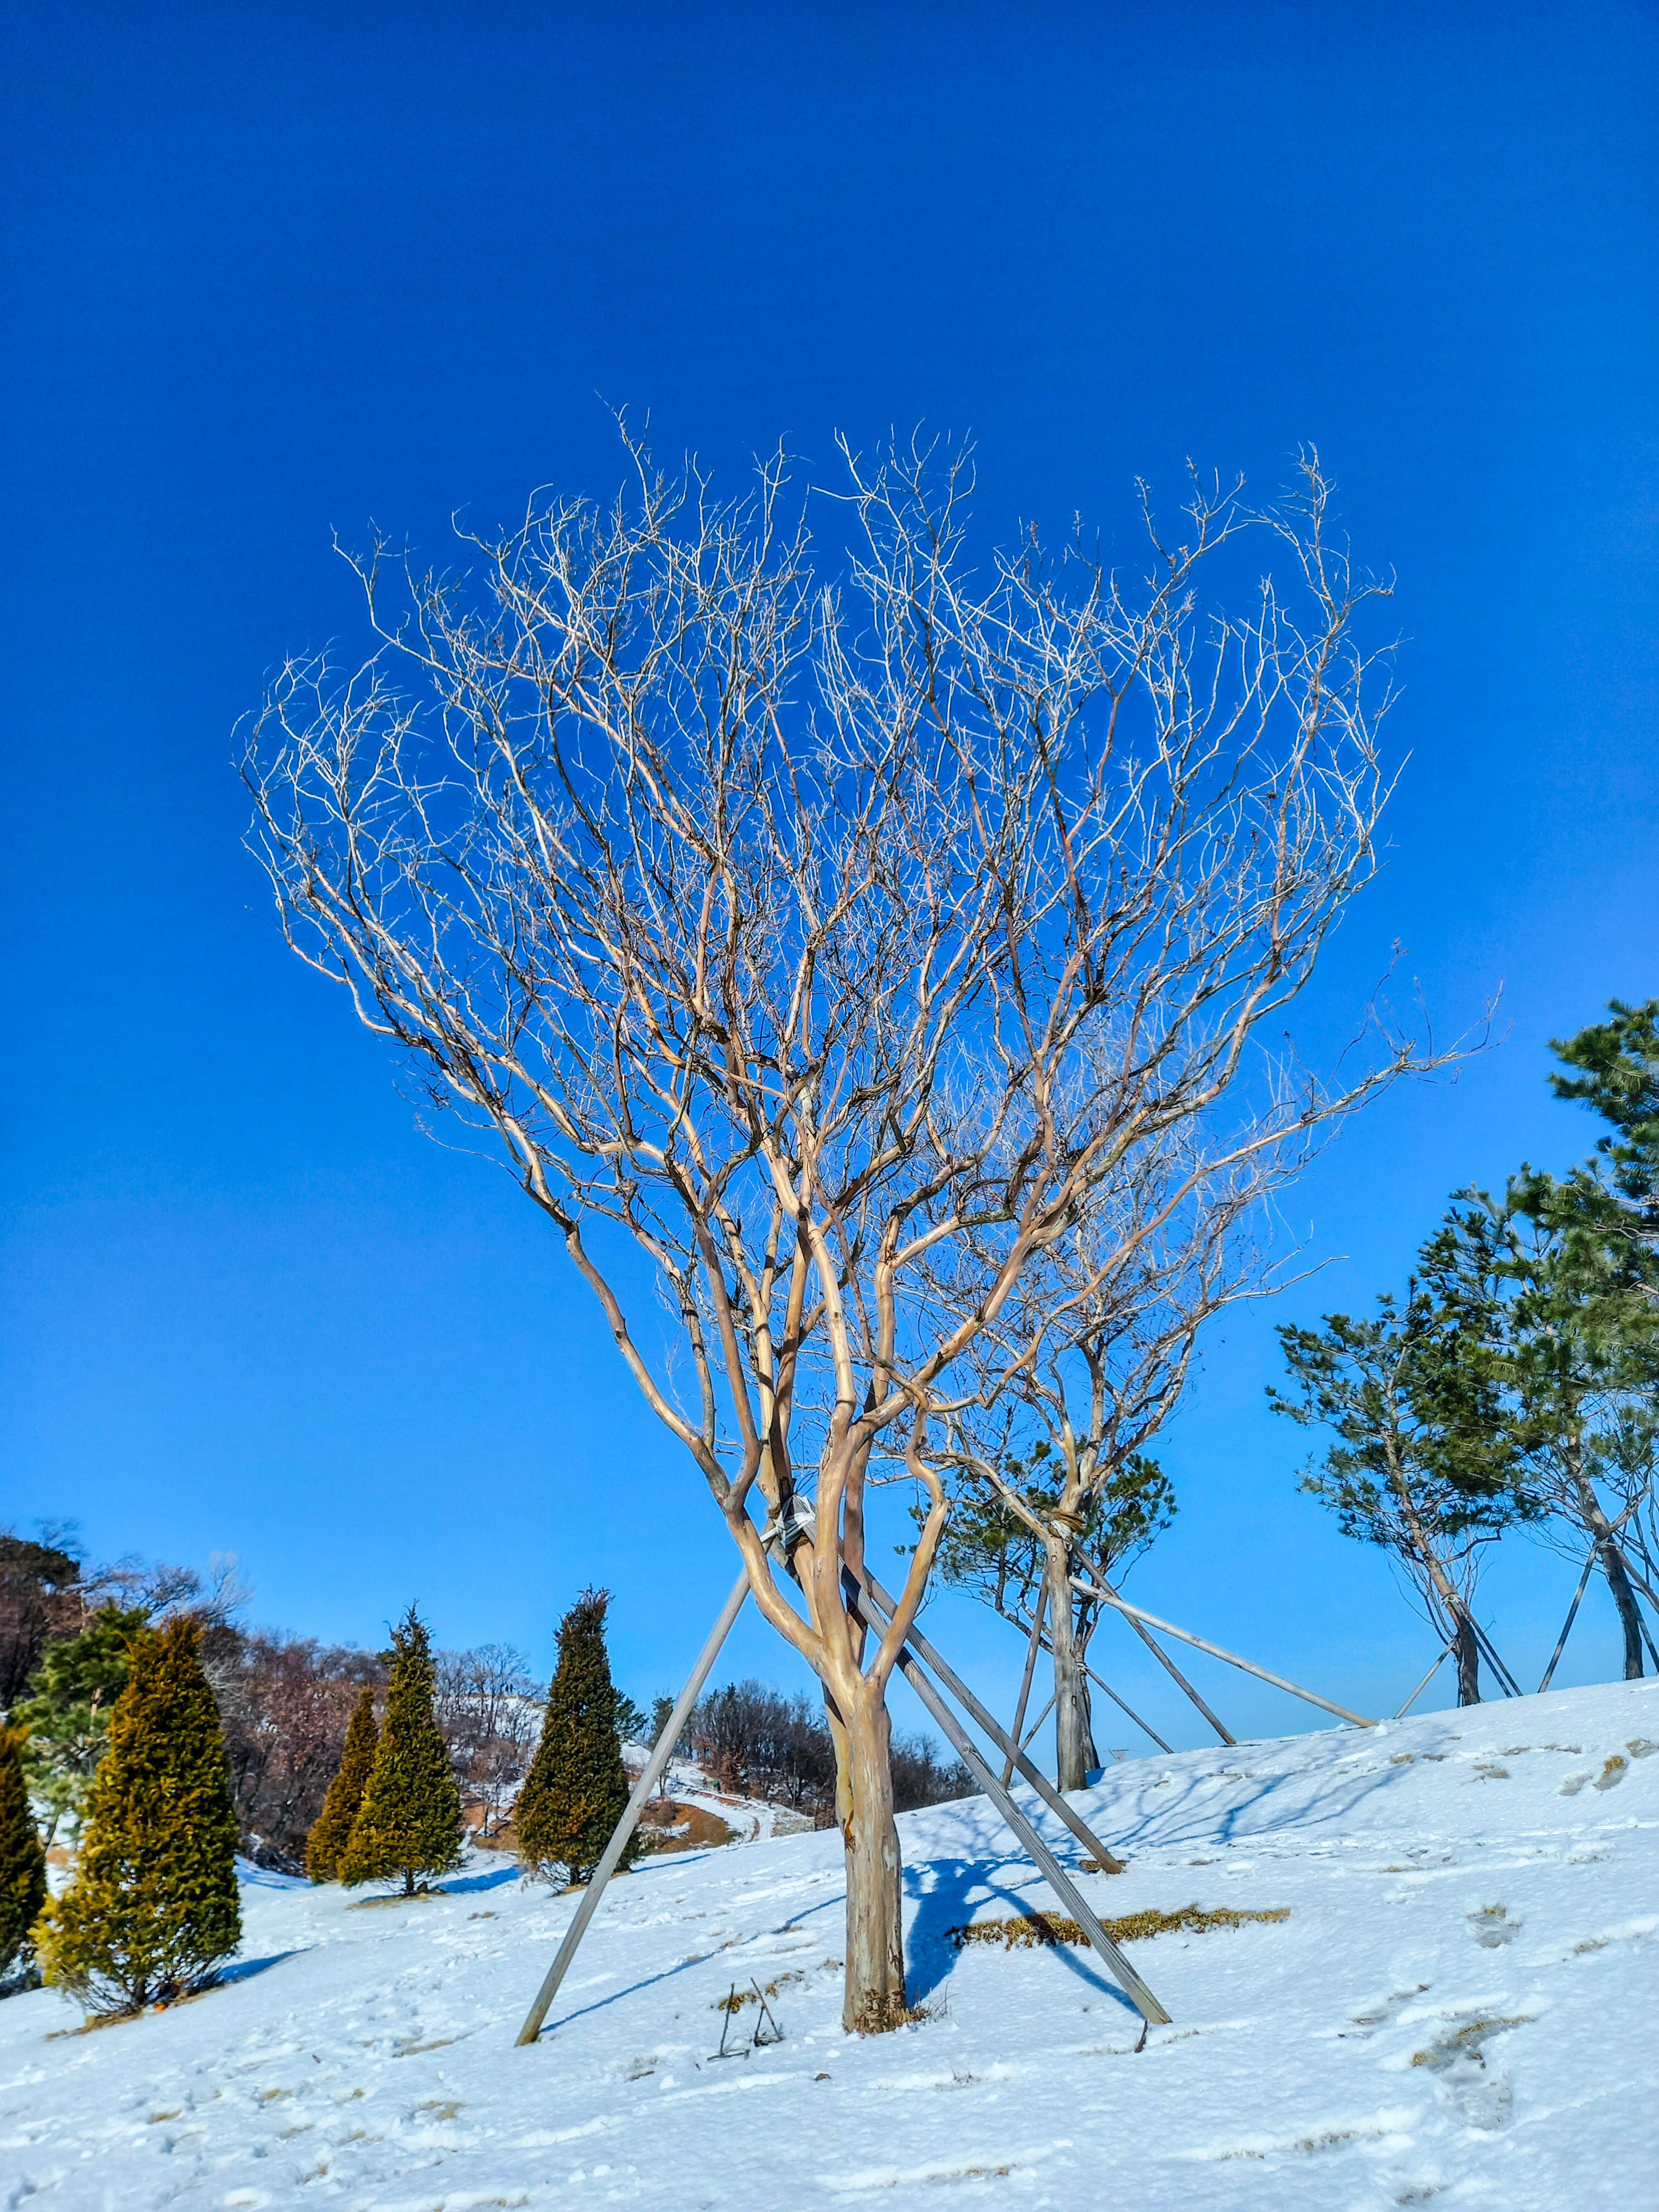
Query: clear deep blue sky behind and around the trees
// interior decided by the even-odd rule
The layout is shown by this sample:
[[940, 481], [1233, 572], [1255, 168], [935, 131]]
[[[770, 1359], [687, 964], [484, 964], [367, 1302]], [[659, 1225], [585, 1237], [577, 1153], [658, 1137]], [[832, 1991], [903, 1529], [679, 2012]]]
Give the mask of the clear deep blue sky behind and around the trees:
[[[1398, 568], [1411, 765], [1307, 1029], [1400, 938], [1442, 1033], [1502, 982], [1504, 1042], [1298, 1190], [1340, 1259], [1212, 1347], [1137, 1586], [1398, 1703], [1427, 1630], [1294, 1493], [1270, 1323], [1586, 1150], [1546, 1037], [1659, 991], [1652, 11], [173, 0], [7, 38], [0, 1515], [234, 1548], [257, 1617], [325, 1637], [418, 1597], [538, 1666], [606, 1582], [637, 1694], [730, 1582], [540, 1219], [416, 1135], [241, 852], [239, 712], [358, 619], [332, 529], [442, 553], [453, 507], [606, 491], [602, 398], [726, 480], [779, 436], [971, 431], [998, 531], [1316, 440]], [[1571, 1582], [1509, 1542], [1486, 1579], [1533, 1681]], [[1011, 1632], [938, 1617], [1006, 1694]], [[1613, 1655], [1597, 1593], [1564, 1679]], [[734, 1663], [787, 1672], [759, 1626]]]

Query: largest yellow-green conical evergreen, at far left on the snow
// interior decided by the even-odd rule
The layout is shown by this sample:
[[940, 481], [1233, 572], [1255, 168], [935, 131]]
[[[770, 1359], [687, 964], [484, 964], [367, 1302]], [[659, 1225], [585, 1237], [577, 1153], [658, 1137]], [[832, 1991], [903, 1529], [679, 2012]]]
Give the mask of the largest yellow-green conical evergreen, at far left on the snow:
[[201, 1989], [241, 1942], [230, 1767], [188, 1615], [131, 1644], [75, 1880], [35, 1940], [46, 1982], [133, 2013]]

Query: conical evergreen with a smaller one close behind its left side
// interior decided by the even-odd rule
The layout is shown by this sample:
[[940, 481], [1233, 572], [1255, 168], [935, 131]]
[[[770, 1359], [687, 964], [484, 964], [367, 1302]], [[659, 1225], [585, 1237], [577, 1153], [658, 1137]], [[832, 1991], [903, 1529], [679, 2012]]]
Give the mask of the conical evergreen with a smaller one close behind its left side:
[[434, 1681], [431, 1639], [409, 1606], [392, 1630], [385, 1723], [338, 1860], [347, 1889], [400, 1874], [403, 1893], [411, 1898], [418, 1874], [447, 1874], [460, 1865], [460, 1790], [431, 1714]]

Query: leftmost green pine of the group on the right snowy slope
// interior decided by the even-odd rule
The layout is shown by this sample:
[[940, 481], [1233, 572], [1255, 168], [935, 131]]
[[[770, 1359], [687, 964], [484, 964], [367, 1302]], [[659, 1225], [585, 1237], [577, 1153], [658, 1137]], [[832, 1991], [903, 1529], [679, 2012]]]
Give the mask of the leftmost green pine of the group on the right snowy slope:
[[1458, 1703], [1480, 1703], [1473, 1588], [1482, 1551], [1535, 1513], [1489, 1356], [1484, 1303], [1464, 1294], [1447, 1234], [1429, 1239], [1405, 1303], [1374, 1321], [1327, 1314], [1281, 1327], [1296, 1394], [1267, 1389], [1274, 1413], [1334, 1442], [1303, 1489], [1345, 1535], [1378, 1544], [1453, 1646]]

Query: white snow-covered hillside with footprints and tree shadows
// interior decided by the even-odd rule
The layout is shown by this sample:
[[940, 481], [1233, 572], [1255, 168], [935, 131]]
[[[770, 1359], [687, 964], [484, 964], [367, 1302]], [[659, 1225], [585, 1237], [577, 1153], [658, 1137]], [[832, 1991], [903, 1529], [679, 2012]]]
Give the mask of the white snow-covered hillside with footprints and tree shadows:
[[[619, 1880], [533, 2051], [571, 1900], [487, 1856], [411, 1905], [250, 1874], [228, 1986], [88, 2035], [49, 1991], [0, 2004], [0, 2205], [1632, 2212], [1657, 1743], [1659, 1686], [1617, 1683], [1113, 1770], [1102, 1911], [1290, 1907], [1135, 1944], [1175, 2015], [1141, 2053], [1088, 1953], [949, 1942], [1053, 1905], [980, 1798], [900, 1823], [933, 2017], [869, 2042], [838, 2028], [834, 1832]], [[785, 2039], [717, 2062], [750, 1978]]]

